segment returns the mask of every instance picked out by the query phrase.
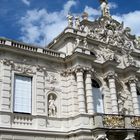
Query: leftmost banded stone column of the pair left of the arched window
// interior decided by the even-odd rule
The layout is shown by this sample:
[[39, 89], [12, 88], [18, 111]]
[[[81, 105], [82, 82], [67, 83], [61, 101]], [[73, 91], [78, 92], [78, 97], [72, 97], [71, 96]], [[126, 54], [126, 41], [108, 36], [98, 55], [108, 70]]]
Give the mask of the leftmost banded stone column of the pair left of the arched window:
[[83, 80], [83, 69], [78, 68], [76, 70], [77, 77], [77, 90], [78, 90], [78, 103], [79, 103], [79, 112], [85, 113], [85, 94], [84, 94], [84, 80]]

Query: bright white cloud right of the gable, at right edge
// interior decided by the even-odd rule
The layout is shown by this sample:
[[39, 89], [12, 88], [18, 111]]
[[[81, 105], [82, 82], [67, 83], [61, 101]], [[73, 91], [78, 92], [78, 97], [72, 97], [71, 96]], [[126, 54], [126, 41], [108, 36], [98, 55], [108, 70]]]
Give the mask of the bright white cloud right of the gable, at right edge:
[[132, 34], [140, 36], [140, 11], [134, 11], [122, 15], [113, 15], [114, 19], [124, 22], [125, 27], [130, 27]]

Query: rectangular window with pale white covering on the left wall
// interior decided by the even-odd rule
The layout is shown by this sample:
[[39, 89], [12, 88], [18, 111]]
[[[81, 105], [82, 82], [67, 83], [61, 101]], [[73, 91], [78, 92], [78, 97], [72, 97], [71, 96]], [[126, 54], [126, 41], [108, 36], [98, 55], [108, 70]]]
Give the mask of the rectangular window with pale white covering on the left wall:
[[32, 78], [15, 75], [14, 112], [31, 113]]

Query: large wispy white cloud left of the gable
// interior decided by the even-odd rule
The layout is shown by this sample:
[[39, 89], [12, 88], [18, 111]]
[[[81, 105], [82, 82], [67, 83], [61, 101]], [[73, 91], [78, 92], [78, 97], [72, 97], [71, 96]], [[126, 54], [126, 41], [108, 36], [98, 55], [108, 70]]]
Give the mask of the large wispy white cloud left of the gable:
[[58, 12], [49, 13], [46, 9], [27, 11], [19, 22], [22, 34], [20, 39], [45, 46], [67, 26], [66, 15], [75, 5], [74, 0], [69, 0]]

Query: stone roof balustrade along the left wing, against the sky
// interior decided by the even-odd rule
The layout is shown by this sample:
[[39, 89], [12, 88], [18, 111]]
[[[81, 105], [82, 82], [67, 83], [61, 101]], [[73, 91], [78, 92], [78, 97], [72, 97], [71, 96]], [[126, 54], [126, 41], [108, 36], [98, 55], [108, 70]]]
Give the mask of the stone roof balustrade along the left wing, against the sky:
[[10, 41], [4, 38], [0, 38], [0, 45], [7, 45], [7, 46], [22, 49], [22, 50], [27, 50], [30, 52], [42, 53], [42, 54], [46, 54], [46, 55], [50, 55], [54, 57], [65, 58], [65, 54], [61, 52], [56, 52], [50, 49], [39, 48], [32, 45], [19, 43], [16, 41]]

